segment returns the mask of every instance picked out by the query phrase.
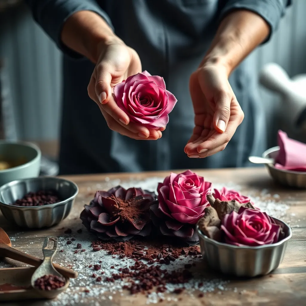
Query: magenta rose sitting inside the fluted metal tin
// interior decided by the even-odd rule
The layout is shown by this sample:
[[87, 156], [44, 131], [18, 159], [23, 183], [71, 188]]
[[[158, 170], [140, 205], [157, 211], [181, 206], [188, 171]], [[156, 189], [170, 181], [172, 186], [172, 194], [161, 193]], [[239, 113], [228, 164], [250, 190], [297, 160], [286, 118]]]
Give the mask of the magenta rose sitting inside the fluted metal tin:
[[225, 242], [237, 246], [258, 246], [278, 242], [281, 227], [265, 212], [241, 206], [238, 213], [224, 216], [221, 229]]

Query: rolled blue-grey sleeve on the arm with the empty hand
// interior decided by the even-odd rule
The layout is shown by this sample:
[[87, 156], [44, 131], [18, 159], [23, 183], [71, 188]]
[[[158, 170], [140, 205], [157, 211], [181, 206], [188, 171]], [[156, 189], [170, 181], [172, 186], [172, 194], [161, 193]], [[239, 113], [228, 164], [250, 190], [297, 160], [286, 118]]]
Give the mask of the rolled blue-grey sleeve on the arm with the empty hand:
[[247, 9], [261, 16], [270, 26], [270, 34], [263, 42], [266, 43], [278, 28], [280, 19], [291, 0], [230, 0], [221, 11], [221, 19], [235, 9]]

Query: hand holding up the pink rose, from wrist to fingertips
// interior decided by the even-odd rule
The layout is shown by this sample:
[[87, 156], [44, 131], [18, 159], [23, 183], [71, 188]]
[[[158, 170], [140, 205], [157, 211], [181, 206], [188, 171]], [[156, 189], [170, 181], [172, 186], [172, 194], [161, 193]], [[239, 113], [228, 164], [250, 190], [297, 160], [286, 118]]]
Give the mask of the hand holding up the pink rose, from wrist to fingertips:
[[109, 42], [101, 44], [98, 52], [99, 58], [88, 85], [88, 95], [99, 105], [108, 127], [134, 139], [159, 139], [162, 136], [161, 131], [129, 122], [128, 115], [114, 100], [114, 86], [142, 71], [136, 51], [114, 37]]

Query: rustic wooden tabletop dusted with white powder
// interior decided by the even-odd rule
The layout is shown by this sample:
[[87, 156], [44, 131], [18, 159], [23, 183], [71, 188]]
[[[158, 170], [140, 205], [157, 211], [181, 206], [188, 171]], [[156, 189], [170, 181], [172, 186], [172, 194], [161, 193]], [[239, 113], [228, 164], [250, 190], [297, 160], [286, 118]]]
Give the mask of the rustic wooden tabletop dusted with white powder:
[[[270, 275], [252, 279], [233, 278], [222, 276], [211, 271], [202, 260], [197, 263], [196, 269], [203, 271], [203, 278], [206, 281], [219, 278], [229, 281], [220, 288], [216, 287], [212, 292], [207, 292], [203, 297], [194, 291], [183, 292], [179, 298], [175, 294], [166, 294], [166, 299], [160, 305], [306, 305], [306, 192], [305, 190], [289, 189], [276, 185], [270, 178], [265, 168], [245, 168], [245, 169], [220, 169], [220, 170], [195, 170], [199, 175], [203, 175], [206, 180], [211, 181], [216, 187], [222, 185], [239, 188], [239, 191], [248, 196], [252, 196], [255, 204], [266, 207], [283, 221], [288, 222], [292, 227], [293, 235], [288, 243], [285, 258]], [[179, 172], [179, 171], [174, 171]], [[107, 190], [114, 185], [133, 185], [145, 187], [152, 185], [157, 187], [158, 178], [169, 175], [169, 172], [151, 172], [139, 174], [105, 174], [105, 175], [79, 175], [67, 177], [79, 186], [79, 194], [76, 198], [75, 206], [69, 217], [59, 225], [47, 230], [27, 230], [16, 228], [0, 213], [0, 225], [11, 237], [13, 247], [32, 255], [42, 257], [41, 247], [44, 237], [58, 236], [60, 245], [67, 240], [63, 233], [63, 228], [71, 228], [73, 231], [84, 227], [79, 219], [80, 212], [84, 204], [89, 203], [95, 191]], [[258, 205], [256, 205], [258, 206]], [[61, 240], [61, 237], [62, 240]], [[89, 236], [90, 237], [90, 236]], [[65, 239], [64, 239], [65, 238]], [[95, 237], [91, 236], [91, 241]], [[61, 246], [60, 246], [61, 247]], [[59, 247], [59, 248], [60, 248]], [[80, 259], [71, 259], [71, 256], [63, 255], [55, 257], [54, 261], [69, 266], [77, 271], [84, 264], [89, 262]], [[68, 254], [68, 253], [67, 253]], [[84, 252], [85, 254], [85, 252]], [[91, 262], [92, 263], [92, 262]], [[0, 267], [8, 267], [8, 264], [22, 266], [16, 262], [0, 260]], [[79, 271], [80, 272], [80, 271]], [[92, 273], [92, 271], [91, 271]], [[60, 295], [55, 301], [29, 302], [31, 305], [144, 305], [147, 297], [143, 294], [130, 295], [123, 293], [101, 293], [86, 295], [82, 293], [88, 282], [92, 282], [90, 277], [86, 278], [85, 273], [80, 273], [80, 281], [72, 282], [68, 292]], [[99, 292], [99, 285], [94, 284]], [[111, 294], [111, 297], [110, 297]], [[68, 296], [68, 297], [67, 297]], [[73, 301], [73, 302], [72, 302]], [[23, 305], [26, 303], [23, 302]], [[9, 305], [20, 305], [11, 303]]]

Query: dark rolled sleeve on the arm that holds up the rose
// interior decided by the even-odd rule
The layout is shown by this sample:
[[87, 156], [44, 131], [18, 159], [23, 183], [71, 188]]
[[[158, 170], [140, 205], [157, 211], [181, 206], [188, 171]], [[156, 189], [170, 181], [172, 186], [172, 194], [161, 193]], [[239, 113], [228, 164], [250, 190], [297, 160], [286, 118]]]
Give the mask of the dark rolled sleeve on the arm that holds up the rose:
[[72, 58], [82, 58], [79, 53], [66, 47], [61, 40], [65, 21], [79, 11], [92, 11], [100, 15], [113, 28], [109, 16], [94, 0], [26, 0], [35, 21], [54, 40], [58, 48]]

